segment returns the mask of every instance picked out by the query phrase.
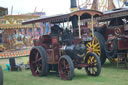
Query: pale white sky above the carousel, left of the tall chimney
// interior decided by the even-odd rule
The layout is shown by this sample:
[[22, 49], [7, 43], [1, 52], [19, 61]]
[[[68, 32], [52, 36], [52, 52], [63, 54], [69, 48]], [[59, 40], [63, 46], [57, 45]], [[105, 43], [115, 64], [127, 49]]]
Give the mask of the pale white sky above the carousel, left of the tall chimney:
[[[79, 1], [85, 2], [85, 0]], [[32, 13], [36, 8], [36, 11], [43, 11], [46, 16], [51, 16], [68, 13], [70, 0], [0, 0], [0, 6], [8, 8], [9, 14], [13, 6], [13, 14]]]

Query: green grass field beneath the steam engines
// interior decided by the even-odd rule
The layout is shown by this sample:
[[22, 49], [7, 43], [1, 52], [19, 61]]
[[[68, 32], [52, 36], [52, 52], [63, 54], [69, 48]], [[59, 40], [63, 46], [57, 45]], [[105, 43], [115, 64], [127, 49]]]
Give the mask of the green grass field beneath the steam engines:
[[[19, 62], [21, 59], [17, 59]], [[3, 69], [8, 60], [0, 60]], [[87, 76], [84, 69], [75, 69], [75, 77], [71, 81], [61, 80], [56, 73], [46, 77], [34, 77], [30, 70], [4, 73], [4, 85], [128, 85], [128, 69], [117, 68], [116, 65], [105, 63], [98, 77]]]

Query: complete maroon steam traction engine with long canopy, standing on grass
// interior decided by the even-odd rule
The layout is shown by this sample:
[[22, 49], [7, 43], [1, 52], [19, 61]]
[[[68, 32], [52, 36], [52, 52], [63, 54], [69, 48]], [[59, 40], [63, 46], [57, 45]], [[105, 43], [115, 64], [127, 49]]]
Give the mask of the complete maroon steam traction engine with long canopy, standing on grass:
[[[88, 75], [98, 76], [101, 72], [100, 60], [95, 53], [86, 52], [86, 43], [93, 38], [88, 36], [91, 30], [85, 29], [85, 26], [82, 28], [80, 23], [79, 26], [77, 23], [91, 18], [91, 15], [96, 17], [101, 14], [94, 10], [81, 10], [23, 22], [23, 24], [35, 22], [53, 24], [50, 26], [50, 34], [41, 36], [37, 45], [31, 49], [29, 60], [32, 74], [46, 76], [48, 72], [55, 70], [61, 79], [72, 80], [74, 68], [84, 67]], [[61, 23], [63, 28], [60, 27]], [[64, 23], [67, 23], [67, 28], [64, 28]], [[72, 24], [72, 27], [69, 27], [69, 24]]]

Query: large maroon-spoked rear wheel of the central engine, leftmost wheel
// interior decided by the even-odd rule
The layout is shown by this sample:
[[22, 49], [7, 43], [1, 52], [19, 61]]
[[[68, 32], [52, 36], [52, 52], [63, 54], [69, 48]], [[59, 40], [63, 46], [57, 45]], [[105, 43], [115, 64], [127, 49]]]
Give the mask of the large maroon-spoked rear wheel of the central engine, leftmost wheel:
[[29, 57], [30, 69], [34, 76], [47, 75], [47, 58], [43, 47], [35, 46], [32, 48]]

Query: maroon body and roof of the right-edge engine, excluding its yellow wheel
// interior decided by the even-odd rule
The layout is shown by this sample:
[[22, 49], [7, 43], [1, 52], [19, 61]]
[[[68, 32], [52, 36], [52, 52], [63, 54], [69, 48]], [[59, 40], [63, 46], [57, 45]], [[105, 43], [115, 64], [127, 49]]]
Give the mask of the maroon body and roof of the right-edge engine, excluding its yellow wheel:
[[[99, 19], [105, 22], [107, 28], [104, 30], [102, 36], [105, 39], [104, 50], [106, 56], [111, 62], [124, 61], [123, 57], [127, 58], [128, 52], [128, 8], [113, 9], [103, 13]], [[107, 48], [107, 49], [106, 49]], [[121, 54], [125, 54], [120, 56]], [[127, 60], [127, 59], [126, 59]]]

